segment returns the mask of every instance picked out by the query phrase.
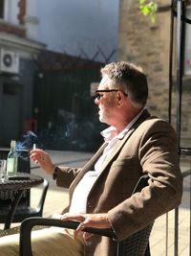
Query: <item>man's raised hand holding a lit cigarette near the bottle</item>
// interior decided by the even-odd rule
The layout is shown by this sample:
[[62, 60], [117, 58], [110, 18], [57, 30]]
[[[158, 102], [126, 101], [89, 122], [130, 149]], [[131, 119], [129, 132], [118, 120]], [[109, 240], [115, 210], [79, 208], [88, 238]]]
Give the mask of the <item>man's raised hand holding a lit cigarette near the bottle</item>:
[[53, 162], [47, 152], [39, 149], [32, 150], [31, 159], [35, 164], [40, 165], [48, 175], [53, 175]]

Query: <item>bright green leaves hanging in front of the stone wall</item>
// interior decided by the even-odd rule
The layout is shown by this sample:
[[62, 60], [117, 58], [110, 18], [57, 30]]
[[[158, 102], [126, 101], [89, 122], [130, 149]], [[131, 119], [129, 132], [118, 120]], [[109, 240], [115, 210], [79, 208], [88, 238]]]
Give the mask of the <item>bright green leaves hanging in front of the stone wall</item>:
[[149, 15], [152, 23], [156, 22], [156, 12], [158, 5], [154, 1], [139, 0], [139, 10], [143, 15]]

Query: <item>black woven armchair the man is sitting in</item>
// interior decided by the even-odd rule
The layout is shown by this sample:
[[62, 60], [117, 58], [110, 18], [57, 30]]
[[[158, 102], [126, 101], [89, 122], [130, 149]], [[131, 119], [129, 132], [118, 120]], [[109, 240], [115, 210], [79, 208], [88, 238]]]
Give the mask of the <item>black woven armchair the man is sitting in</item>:
[[[138, 180], [138, 184], [133, 194], [138, 193], [141, 189], [148, 185], [148, 175], [143, 175]], [[31, 232], [36, 225], [43, 226], [58, 226], [70, 229], [75, 229], [78, 226], [78, 221], [61, 221], [50, 218], [29, 218], [22, 221], [20, 227], [20, 256], [32, 256]], [[153, 222], [149, 223], [137, 233], [128, 237], [126, 240], [117, 243], [117, 256], [149, 256], [149, 237], [153, 227]], [[117, 239], [112, 229], [99, 229], [86, 227], [83, 229], [89, 233], [94, 233], [100, 236], [106, 236], [111, 239]]]

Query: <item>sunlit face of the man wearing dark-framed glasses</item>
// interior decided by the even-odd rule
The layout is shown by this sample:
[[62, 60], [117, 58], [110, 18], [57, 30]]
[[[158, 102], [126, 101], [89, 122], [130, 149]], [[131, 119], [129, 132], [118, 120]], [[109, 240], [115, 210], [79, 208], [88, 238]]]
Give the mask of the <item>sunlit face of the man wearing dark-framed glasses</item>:
[[[98, 90], [112, 89], [113, 87], [109, 86], [109, 81], [108, 77], [103, 77]], [[98, 92], [95, 103], [99, 108], [99, 121], [112, 126], [117, 110], [117, 91]]]

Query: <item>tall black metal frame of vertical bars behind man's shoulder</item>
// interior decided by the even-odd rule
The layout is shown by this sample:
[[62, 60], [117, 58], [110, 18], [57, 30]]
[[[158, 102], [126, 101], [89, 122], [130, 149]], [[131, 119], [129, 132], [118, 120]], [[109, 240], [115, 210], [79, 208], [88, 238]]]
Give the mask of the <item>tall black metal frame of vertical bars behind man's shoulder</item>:
[[[181, 94], [182, 94], [182, 75], [183, 75], [183, 53], [184, 53], [184, 23], [191, 24], [191, 20], [185, 17], [185, 1], [184, 0], [172, 0], [172, 10], [171, 10], [171, 34], [170, 34], [170, 56], [169, 56], [169, 122], [171, 123], [171, 111], [172, 111], [172, 66], [173, 66], [173, 32], [174, 32], [174, 17], [177, 16], [177, 77], [176, 77], [176, 129], [178, 137], [178, 151], [179, 156], [182, 155], [191, 155], [191, 149], [181, 148], [180, 145], [180, 133], [181, 133]], [[190, 177], [191, 178], [191, 177]], [[191, 180], [191, 179], [190, 179]], [[191, 206], [191, 198], [190, 198]], [[191, 215], [190, 215], [191, 222]], [[191, 230], [191, 227], [190, 227]], [[168, 217], [166, 219], [166, 238], [168, 239]], [[190, 235], [190, 244], [191, 244], [191, 235]], [[166, 241], [166, 256], [168, 253], [168, 241]], [[191, 251], [191, 245], [190, 245]], [[189, 254], [191, 255], [191, 254]], [[179, 208], [175, 210], [175, 234], [174, 234], [174, 256], [179, 256]]]

